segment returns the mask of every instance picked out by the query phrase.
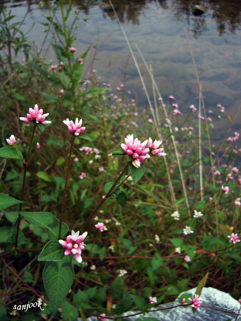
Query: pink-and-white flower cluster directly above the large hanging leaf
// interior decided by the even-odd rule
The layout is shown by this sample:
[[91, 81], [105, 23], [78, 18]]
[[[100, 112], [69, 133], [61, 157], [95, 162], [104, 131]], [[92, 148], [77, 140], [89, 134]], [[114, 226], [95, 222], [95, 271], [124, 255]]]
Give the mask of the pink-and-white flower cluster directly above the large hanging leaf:
[[70, 256], [74, 255], [74, 258], [77, 262], [82, 262], [81, 251], [84, 249], [83, 240], [86, 238], [87, 232], [83, 233], [79, 236], [79, 231], [75, 233], [72, 230], [71, 235], [67, 236], [66, 241], [58, 240], [58, 242], [62, 245], [63, 248], [66, 248], [65, 255]]

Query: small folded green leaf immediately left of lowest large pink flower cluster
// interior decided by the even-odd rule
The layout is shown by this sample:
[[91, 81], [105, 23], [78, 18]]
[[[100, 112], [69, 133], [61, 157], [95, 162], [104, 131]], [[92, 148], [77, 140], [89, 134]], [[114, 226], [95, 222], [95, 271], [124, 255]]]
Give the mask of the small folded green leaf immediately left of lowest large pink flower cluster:
[[58, 240], [51, 240], [42, 249], [38, 261], [59, 261], [64, 257], [64, 248]]

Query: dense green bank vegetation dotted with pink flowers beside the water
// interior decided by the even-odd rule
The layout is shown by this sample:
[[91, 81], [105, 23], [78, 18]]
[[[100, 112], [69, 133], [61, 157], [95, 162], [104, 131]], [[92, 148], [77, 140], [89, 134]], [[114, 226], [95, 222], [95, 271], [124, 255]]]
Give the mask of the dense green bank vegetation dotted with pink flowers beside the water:
[[[241, 106], [235, 115], [219, 102], [206, 110], [186, 35], [200, 99], [182, 106], [181, 118], [174, 93], [163, 100], [133, 44], [152, 81], [147, 91], [109, 4], [149, 102], [142, 113], [125, 81], [111, 90], [111, 80], [102, 83], [94, 70], [95, 56], [85, 64], [91, 47], [79, 52], [75, 39], [86, 21], [78, 12], [68, 21], [71, 0], [48, 4], [42, 23], [56, 65], [0, 6], [4, 320], [119, 319], [181, 292], [178, 306], [198, 313], [204, 286], [240, 299], [241, 146], [232, 125]], [[210, 133], [224, 115], [230, 126], [214, 147]], [[233, 312], [237, 319], [240, 311]]]

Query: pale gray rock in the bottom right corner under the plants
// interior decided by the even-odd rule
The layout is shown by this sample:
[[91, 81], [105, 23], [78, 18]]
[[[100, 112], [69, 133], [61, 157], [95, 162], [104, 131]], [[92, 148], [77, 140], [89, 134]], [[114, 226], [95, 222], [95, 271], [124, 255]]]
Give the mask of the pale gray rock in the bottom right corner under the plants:
[[[183, 293], [195, 294], [196, 289], [191, 289]], [[182, 294], [183, 294], [182, 293]], [[181, 294], [180, 294], [181, 295]], [[202, 301], [202, 306], [207, 306], [210, 308], [226, 310], [229, 312], [238, 313], [240, 308], [240, 303], [232, 298], [228, 293], [213, 289], [213, 288], [203, 288], [200, 296]], [[168, 308], [178, 305], [178, 299], [174, 302], [159, 304], [153, 307], [153, 309]], [[212, 310], [210, 308], [200, 307], [200, 310], [193, 315], [191, 306], [188, 308], [178, 307], [165, 311], [156, 311], [146, 313], [144, 317], [153, 317], [161, 321], [231, 321], [236, 320], [236, 315], [230, 314], [223, 311]], [[130, 314], [135, 314], [138, 311], [125, 312], [122, 316], [125, 317]], [[129, 321], [134, 321], [138, 317], [143, 316], [142, 314], [133, 317], [126, 317]], [[79, 319], [81, 320], [81, 319]], [[87, 321], [98, 321], [96, 317], [89, 317]], [[237, 318], [237, 321], [241, 321], [241, 316]]]

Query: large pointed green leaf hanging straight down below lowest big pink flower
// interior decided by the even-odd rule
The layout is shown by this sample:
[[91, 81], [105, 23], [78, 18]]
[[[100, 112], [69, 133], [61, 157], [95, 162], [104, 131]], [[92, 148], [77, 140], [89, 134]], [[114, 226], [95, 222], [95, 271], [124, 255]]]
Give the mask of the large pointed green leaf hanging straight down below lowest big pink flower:
[[49, 261], [43, 269], [43, 284], [52, 307], [53, 317], [74, 281], [72, 257], [72, 255], [65, 255], [59, 261]]

